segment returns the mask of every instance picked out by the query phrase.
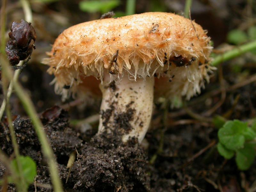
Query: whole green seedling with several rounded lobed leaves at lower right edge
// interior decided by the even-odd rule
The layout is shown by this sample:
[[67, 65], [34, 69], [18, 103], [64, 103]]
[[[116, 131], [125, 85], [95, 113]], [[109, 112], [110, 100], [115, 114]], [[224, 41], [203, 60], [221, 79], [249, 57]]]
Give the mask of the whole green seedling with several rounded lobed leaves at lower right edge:
[[256, 123], [248, 127], [239, 120], [227, 121], [218, 132], [217, 145], [221, 156], [230, 159], [236, 155], [236, 164], [240, 170], [247, 170], [256, 155]]

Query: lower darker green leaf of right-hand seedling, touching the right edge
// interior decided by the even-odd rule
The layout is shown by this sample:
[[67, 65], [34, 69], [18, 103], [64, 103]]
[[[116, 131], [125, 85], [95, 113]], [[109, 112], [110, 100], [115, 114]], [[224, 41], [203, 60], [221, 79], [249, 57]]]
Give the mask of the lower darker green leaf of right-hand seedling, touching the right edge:
[[255, 144], [245, 143], [244, 148], [236, 152], [236, 164], [240, 170], [247, 170], [253, 164], [256, 155]]

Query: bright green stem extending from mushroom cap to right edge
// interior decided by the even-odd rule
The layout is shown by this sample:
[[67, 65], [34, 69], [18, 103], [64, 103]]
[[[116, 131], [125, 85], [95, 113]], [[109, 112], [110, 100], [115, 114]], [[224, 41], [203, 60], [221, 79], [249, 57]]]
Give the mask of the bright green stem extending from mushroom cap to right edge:
[[235, 57], [238, 57], [244, 54], [245, 52], [249, 52], [255, 49], [256, 49], [256, 41], [252, 41], [247, 44], [235, 47], [234, 49], [215, 57], [214, 60], [212, 61], [212, 66], [217, 66], [222, 62], [231, 60]]

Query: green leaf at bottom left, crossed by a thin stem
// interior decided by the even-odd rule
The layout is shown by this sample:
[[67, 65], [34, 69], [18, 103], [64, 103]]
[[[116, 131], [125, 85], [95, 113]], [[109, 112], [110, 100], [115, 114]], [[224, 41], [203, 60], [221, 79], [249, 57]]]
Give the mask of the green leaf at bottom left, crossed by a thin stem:
[[[34, 182], [36, 177], [36, 163], [29, 156], [20, 156], [19, 159], [22, 168], [22, 176], [24, 177], [26, 183], [29, 185]], [[12, 160], [10, 166], [12, 166], [17, 175], [20, 175], [17, 159]], [[14, 182], [12, 178], [10, 178], [9, 181], [12, 183]]]

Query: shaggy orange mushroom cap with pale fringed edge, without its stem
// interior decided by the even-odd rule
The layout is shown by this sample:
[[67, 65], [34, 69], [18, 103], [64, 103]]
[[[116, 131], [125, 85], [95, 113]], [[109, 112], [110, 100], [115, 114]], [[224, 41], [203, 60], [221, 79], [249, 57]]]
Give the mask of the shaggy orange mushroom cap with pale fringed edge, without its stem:
[[72, 26], [59, 35], [43, 63], [50, 66], [55, 91], [64, 98], [91, 93], [94, 88], [88, 87], [87, 76], [102, 82], [109, 74], [118, 81], [127, 73], [133, 81], [157, 77], [157, 97], [189, 99], [209, 79], [209, 41], [194, 21], [173, 13], [147, 12]]

